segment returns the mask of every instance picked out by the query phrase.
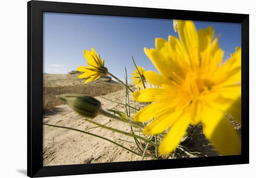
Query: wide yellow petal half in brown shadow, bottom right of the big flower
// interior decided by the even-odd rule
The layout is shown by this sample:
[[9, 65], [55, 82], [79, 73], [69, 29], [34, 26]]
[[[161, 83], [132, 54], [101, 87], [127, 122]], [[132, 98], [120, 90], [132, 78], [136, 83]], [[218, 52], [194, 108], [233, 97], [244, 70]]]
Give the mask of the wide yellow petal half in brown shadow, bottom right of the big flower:
[[241, 138], [224, 114], [205, 107], [202, 113], [203, 132], [221, 155], [241, 154]]

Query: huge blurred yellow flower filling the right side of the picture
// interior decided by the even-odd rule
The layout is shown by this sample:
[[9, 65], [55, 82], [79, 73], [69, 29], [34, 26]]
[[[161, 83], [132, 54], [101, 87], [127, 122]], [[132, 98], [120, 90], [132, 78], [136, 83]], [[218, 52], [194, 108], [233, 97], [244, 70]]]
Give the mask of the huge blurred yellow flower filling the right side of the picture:
[[179, 39], [155, 39], [156, 49], [144, 51], [160, 74], [146, 71], [149, 88], [133, 93], [139, 102], [153, 102], [134, 116], [136, 121], [154, 119], [143, 132], [168, 133], [159, 146], [172, 152], [188, 126], [202, 123], [203, 132], [221, 155], [241, 153], [240, 135], [224, 116], [241, 121], [241, 49], [223, 61], [223, 51], [212, 27], [196, 31], [192, 21], [176, 21]]

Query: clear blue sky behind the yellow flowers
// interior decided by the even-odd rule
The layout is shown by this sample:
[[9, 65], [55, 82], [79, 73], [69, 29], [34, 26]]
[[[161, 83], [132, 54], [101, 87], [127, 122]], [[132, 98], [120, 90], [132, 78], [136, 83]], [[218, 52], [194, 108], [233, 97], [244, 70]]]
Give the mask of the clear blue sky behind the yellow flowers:
[[[224, 58], [241, 46], [241, 25], [236, 23], [194, 21], [197, 29], [212, 26], [220, 34], [219, 44], [226, 52]], [[105, 60], [108, 71], [124, 79], [137, 65], [156, 71], [145, 55], [144, 47], [155, 47], [155, 38], [178, 37], [173, 21], [134, 17], [43, 13], [44, 73], [67, 73], [77, 66], [86, 66], [83, 50], [94, 47]]]

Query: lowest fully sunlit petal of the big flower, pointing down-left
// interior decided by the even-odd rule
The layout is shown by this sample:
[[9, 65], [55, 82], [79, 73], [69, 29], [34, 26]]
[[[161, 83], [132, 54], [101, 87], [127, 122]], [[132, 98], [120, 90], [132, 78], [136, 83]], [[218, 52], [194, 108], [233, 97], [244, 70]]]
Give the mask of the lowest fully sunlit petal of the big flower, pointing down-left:
[[189, 119], [187, 117], [179, 118], [174, 125], [172, 125], [166, 137], [162, 140], [159, 146], [160, 154], [168, 154], [173, 152], [179, 145], [181, 139], [189, 126]]

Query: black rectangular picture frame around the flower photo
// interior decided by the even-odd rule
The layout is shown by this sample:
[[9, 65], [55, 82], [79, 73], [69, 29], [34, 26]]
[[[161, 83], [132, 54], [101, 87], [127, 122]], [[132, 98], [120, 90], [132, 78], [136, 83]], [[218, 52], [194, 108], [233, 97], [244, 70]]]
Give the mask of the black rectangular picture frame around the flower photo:
[[[43, 166], [42, 13], [80, 13], [241, 23], [242, 154], [203, 158]], [[249, 14], [213, 13], [32, 0], [27, 2], [27, 176], [47, 177], [249, 163]]]

